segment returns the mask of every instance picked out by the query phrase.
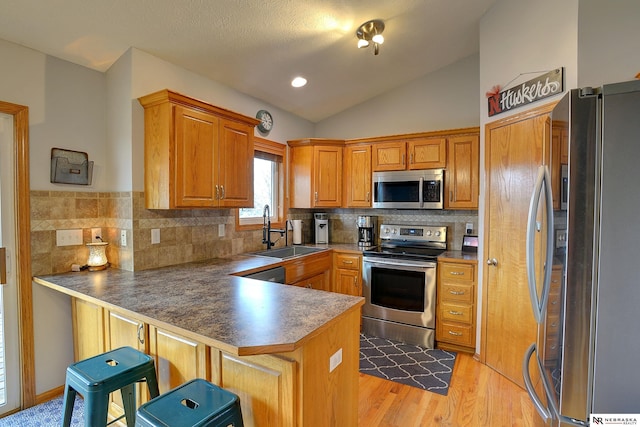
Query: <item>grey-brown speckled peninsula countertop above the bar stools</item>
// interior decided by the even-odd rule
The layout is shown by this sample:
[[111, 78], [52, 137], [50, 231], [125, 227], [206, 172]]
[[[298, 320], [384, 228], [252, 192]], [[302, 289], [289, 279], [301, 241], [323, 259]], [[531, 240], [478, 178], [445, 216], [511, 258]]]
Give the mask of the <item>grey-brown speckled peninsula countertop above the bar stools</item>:
[[34, 277], [34, 281], [237, 355], [293, 351], [362, 297], [246, 279], [230, 274], [282, 265], [230, 258], [143, 271], [107, 269]]

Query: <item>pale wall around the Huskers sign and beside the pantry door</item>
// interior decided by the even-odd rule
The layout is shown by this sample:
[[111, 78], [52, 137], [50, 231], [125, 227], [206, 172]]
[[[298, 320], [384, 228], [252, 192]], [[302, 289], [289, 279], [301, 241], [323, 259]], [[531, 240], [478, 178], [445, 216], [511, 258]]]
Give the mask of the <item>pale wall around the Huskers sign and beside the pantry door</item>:
[[[482, 301], [484, 276], [485, 125], [513, 114], [544, 105], [561, 95], [488, 117], [485, 92], [494, 85], [505, 87], [525, 82], [539, 74], [565, 67], [565, 88], [575, 87], [578, 74], [578, 0], [499, 0], [480, 22], [480, 207], [478, 222], [478, 301]], [[530, 73], [520, 76], [523, 73]], [[518, 77], [520, 76], [520, 77]], [[515, 79], [515, 80], [514, 80]], [[480, 307], [480, 305], [479, 305]], [[478, 325], [482, 310], [478, 310]], [[480, 328], [477, 331], [480, 346]]]

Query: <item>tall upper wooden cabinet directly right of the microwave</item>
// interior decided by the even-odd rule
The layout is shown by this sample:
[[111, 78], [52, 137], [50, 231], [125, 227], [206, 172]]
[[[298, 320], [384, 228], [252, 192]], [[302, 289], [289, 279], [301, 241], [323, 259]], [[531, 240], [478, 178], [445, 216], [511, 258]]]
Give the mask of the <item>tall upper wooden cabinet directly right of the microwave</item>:
[[445, 209], [478, 209], [480, 191], [480, 140], [478, 134], [447, 141], [448, 163], [444, 175]]

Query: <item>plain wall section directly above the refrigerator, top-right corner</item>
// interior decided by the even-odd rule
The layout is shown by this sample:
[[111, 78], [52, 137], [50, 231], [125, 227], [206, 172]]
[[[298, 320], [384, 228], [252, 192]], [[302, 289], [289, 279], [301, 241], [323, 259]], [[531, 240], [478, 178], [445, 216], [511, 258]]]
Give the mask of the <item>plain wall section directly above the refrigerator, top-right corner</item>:
[[633, 80], [640, 73], [640, 1], [580, 0], [578, 86]]

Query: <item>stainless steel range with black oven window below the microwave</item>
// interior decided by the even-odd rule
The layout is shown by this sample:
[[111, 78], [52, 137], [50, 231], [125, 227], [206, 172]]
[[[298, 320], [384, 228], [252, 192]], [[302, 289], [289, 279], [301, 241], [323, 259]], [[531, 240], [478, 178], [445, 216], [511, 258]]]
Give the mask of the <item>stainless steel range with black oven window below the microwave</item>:
[[380, 249], [364, 252], [364, 333], [433, 348], [436, 258], [446, 249], [447, 227], [380, 226]]

